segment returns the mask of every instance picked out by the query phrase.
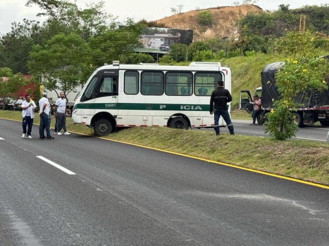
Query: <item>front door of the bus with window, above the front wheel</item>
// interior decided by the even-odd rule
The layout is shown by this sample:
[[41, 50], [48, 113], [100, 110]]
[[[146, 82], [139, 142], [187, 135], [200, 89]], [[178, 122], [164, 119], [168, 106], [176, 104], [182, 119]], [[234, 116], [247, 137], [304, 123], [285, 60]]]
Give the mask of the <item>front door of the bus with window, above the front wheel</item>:
[[95, 114], [106, 111], [118, 114], [118, 75], [101, 75], [95, 89]]

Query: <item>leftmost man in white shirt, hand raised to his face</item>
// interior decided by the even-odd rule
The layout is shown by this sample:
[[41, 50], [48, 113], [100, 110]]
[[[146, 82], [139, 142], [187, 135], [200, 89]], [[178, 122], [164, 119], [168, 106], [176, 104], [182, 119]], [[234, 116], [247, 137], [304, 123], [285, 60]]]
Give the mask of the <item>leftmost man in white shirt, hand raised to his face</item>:
[[[31, 131], [33, 125], [33, 111], [37, 107], [36, 103], [31, 99], [29, 94], [25, 95], [25, 100], [22, 102], [22, 116], [23, 116], [23, 138], [32, 138]], [[28, 126], [28, 131], [26, 127]]]

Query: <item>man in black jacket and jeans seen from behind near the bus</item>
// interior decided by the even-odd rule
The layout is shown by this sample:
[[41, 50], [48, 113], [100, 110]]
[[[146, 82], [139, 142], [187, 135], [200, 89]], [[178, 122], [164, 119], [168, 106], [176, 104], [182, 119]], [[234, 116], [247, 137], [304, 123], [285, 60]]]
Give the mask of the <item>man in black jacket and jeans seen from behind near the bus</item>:
[[[231, 135], [234, 135], [234, 128], [233, 124], [230, 118], [230, 114], [228, 112], [227, 102], [232, 101], [232, 95], [230, 91], [224, 88], [224, 81], [219, 80], [217, 82], [217, 89], [215, 89], [211, 93], [210, 97], [210, 114], [214, 113], [214, 120], [215, 125], [214, 129], [216, 132], [216, 135], [219, 135], [219, 118], [222, 115], [223, 119], [225, 120], [227, 127], [229, 128], [229, 131]], [[215, 105], [214, 105], [215, 104]]]

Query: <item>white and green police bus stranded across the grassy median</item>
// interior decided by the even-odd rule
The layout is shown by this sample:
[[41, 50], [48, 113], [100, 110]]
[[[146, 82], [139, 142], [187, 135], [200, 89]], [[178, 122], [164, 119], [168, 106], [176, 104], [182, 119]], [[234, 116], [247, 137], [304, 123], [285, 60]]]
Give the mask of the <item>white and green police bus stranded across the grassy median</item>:
[[[117, 127], [211, 127], [210, 95], [218, 80], [231, 91], [231, 70], [219, 62], [171, 66], [114, 61], [90, 76], [76, 98], [72, 119], [93, 127], [98, 136]], [[221, 118], [220, 126], [224, 123]]]

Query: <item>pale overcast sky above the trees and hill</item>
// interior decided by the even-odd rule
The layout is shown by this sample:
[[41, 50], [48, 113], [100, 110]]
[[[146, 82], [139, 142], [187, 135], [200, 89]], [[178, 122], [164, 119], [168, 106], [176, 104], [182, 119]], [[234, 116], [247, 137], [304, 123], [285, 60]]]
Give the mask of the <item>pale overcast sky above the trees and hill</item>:
[[[71, 0], [72, 2], [74, 0]], [[86, 3], [97, 2], [98, 0], [77, 0], [79, 7], [85, 7]], [[105, 9], [109, 13], [119, 16], [118, 20], [123, 21], [127, 17], [135, 20], [145, 18], [155, 20], [164, 16], [170, 16], [171, 7], [183, 4], [183, 11], [193, 10], [196, 7], [208, 8], [216, 6], [230, 6], [235, 0], [104, 0]], [[240, 0], [242, 1], [242, 0]], [[256, 4], [263, 9], [274, 10], [279, 4], [290, 4], [290, 8], [300, 7], [306, 4], [324, 4], [329, 0], [259, 0]], [[40, 9], [36, 6], [25, 6], [26, 0], [0, 0], [0, 33], [10, 31], [12, 22], [22, 21], [24, 18], [43, 19], [36, 14]]]

